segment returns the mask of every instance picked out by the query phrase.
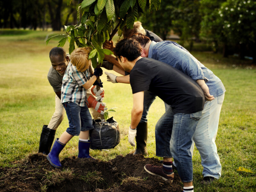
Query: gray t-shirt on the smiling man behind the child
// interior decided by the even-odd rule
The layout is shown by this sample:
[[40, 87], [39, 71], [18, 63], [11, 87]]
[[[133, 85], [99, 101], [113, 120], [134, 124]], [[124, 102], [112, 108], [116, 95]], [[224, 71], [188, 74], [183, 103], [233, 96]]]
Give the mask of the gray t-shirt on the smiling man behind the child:
[[[67, 56], [70, 58], [69, 54], [67, 54]], [[50, 67], [47, 78], [49, 83], [52, 85], [54, 92], [61, 91], [63, 76], [64, 75], [60, 75], [55, 69], [53, 69], [52, 66]]]

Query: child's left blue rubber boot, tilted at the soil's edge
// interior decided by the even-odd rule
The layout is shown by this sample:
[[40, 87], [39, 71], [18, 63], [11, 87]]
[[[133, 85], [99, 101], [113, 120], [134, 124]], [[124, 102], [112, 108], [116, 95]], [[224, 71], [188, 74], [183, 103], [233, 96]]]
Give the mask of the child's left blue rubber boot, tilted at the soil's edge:
[[61, 168], [61, 163], [59, 159], [60, 151], [66, 146], [66, 144], [63, 144], [59, 141], [59, 138], [57, 138], [52, 146], [52, 150], [47, 155], [47, 159], [50, 162], [50, 164], [53, 167]]

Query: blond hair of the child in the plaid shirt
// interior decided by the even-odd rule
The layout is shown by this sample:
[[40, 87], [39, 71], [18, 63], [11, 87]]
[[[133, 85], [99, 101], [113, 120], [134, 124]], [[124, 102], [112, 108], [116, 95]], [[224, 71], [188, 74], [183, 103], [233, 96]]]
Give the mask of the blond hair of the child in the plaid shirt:
[[89, 47], [79, 47], [70, 54], [70, 61], [72, 65], [76, 66], [77, 71], [84, 72], [89, 67], [88, 57], [90, 52]]

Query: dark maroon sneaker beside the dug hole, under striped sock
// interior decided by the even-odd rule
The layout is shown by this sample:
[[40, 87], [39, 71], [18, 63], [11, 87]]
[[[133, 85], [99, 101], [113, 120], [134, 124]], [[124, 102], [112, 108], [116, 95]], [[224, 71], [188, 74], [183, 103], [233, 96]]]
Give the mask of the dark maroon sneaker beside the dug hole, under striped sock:
[[174, 173], [172, 173], [170, 175], [167, 175], [163, 171], [163, 166], [156, 166], [156, 165], [146, 164], [144, 166], [144, 169], [145, 169], [146, 172], [150, 173], [151, 175], [157, 175], [165, 181], [170, 180], [171, 183], [173, 181]]

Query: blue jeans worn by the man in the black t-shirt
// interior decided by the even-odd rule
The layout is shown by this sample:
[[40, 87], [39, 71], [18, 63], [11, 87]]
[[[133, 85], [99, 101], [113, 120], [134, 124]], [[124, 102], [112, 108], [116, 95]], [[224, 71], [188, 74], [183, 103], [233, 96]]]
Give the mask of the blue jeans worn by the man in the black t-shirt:
[[156, 156], [173, 157], [182, 182], [193, 180], [190, 148], [202, 111], [173, 114], [170, 107], [156, 124]]

